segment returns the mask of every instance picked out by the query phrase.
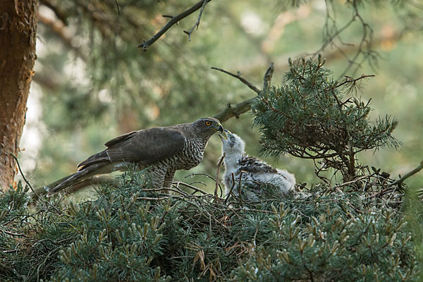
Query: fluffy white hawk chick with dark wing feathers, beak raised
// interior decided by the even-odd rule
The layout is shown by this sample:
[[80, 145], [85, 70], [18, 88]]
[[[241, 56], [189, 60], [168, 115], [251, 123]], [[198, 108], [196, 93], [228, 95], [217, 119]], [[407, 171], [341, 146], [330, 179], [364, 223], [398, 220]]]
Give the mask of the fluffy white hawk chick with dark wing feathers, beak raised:
[[[295, 176], [286, 170], [276, 169], [264, 161], [245, 154], [245, 142], [233, 133], [226, 131], [226, 138], [222, 135], [222, 153], [225, 154], [224, 183], [226, 195], [233, 192], [239, 195], [239, 190], [247, 200], [257, 201], [269, 184], [276, 188], [279, 194], [285, 194], [295, 185]], [[240, 185], [240, 187], [239, 187]]]

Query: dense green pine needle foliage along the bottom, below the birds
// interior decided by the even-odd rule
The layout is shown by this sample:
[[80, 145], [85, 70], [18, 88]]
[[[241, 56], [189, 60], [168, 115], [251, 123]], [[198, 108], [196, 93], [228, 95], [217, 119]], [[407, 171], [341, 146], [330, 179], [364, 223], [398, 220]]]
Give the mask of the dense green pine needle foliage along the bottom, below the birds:
[[[320, 185], [307, 194], [228, 205], [178, 187], [171, 194], [152, 189], [143, 173], [129, 172], [119, 186], [100, 186], [92, 200], [64, 201], [59, 195], [31, 208], [21, 186], [3, 192], [0, 280], [419, 277], [415, 245], [422, 239], [412, 233], [398, 204], [391, 204], [401, 201], [398, 193], [381, 198]], [[422, 202], [414, 204], [422, 210]]]

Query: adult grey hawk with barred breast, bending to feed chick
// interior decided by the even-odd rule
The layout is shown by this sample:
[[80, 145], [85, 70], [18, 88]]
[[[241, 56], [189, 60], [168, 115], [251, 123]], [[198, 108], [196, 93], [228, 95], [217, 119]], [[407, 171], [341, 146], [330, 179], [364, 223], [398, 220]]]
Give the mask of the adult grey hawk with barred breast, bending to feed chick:
[[151, 173], [154, 188], [169, 188], [175, 172], [200, 164], [204, 149], [214, 133], [223, 133], [216, 118], [193, 123], [148, 128], [118, 136], [104, 144], [107, 149], [78, 164], [78, 171], [44, 188], [48, 194], [71, 187], [92, 176], [124, 170], [125, 163], [137, 164]]

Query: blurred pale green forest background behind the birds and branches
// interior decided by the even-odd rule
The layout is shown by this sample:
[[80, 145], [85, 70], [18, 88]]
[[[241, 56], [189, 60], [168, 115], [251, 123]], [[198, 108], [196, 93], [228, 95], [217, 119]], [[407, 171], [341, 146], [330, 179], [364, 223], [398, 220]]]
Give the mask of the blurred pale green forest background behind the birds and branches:
[[[137, 49], [166, 23], [168, 18], [161, 15], [176, 16], [193, 4], [40, 0], [36, 75], [20, 146], [25, 148], [20, 162], [33, 185], [73, 173], [76, 164], [122, 133], [214, 116], [228, 103], [255, 97], [239, 80], [212, 66], [240, 71], [261, 88], [269, 63], [275, 63], [272, 83], [281, 85], [288, 57], [318, 51], [335, 79], [376, 75], [357, 96], [372, 99], [372, 118], [391, 114], [399, 121], [394, 135], [403, 142], [400, 151], [363, 152], [360, 161], [393, 178], [422, 161], [423, 13], [418, 1], [215, 0], [204, 9], [190, 42], [183, 30], [194, 25], [198, 11], [147, 51]], [[333, 41], [321, 50], [328, 37]], [[350, 61], [354, 63], [348, 68]], [[243, 137], [248, 154], [259, 155], [249, 112], [223, 126]], [[214, 189], [205, 176], [185, 176], [216, 176], [220, 151], [216, 135], [202, 164], [179, 171], [176, 180], [202, 181], [207, 187], [195, 185]], [[295, 173], [299, 183], [318, 181], [312, 161], [288, 155], [266, 161]], [[406, 183], [422, 187], [423, 173]]]

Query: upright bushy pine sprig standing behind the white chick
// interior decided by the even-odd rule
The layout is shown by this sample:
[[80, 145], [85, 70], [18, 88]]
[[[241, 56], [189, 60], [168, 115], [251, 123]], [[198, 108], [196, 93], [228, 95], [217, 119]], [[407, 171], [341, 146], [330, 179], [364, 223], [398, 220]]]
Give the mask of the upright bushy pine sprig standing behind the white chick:
[[389, 116], [369, 121], [369, 102], [348, 95], [365, 75], [336, 82], [320, 56], [289, 60], [289, 66], [285, 84], [270, 87], [254, 105], [264, 154], [325, 159], [348, 180], [356, 176], [358, 152], [400, 145], [391, 134], [398, 121]]

